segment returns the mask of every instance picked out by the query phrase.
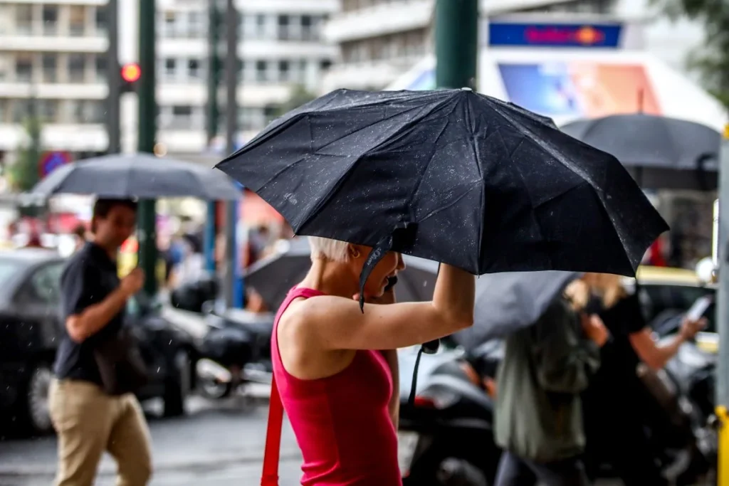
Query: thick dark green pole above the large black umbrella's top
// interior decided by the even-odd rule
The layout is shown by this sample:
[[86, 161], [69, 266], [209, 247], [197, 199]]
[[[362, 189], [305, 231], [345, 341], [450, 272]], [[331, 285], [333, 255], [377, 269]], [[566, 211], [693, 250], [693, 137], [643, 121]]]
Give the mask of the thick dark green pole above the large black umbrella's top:
[[439, 88], [475, 89], [478, 0], [437, 0], [435, 81]]

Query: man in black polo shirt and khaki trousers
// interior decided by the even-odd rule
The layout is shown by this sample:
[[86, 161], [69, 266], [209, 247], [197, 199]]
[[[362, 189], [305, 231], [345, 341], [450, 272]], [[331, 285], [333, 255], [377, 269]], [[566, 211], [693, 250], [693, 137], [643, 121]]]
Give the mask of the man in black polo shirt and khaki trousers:
[[136, 227], [136, 203], [98, 199], [93, 239], [71, 256], [61, 275], [63, 337], [50, 386], [50, 416], [58, 433], [56, 486], [93, 485], [101, 455], [118, 464], [120, 486], [144, 486], [152, 475], [149, 430], [133, 393], [104, 391], [95, 351], [123, 326], [127, 300], [144, 273], [117, 276], [119, 247]]

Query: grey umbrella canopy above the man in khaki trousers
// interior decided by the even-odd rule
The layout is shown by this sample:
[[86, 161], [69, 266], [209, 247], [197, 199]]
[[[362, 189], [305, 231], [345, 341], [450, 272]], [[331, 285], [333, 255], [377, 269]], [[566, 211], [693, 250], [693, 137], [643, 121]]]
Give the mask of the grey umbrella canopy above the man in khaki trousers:
[[241, 189], [225, 174], [203, 165], [152, 154], [112, 154], [56, 169], [36, 184], [34, 195], [87, 194], [99, 197], [198, 197], [237, 200]]

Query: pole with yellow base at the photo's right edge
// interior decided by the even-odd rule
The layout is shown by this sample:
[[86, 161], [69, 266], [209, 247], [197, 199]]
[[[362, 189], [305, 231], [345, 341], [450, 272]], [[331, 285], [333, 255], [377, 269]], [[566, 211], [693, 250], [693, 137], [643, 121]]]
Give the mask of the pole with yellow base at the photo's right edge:
[[717, 408], [719, 420], [719, 486], [729, 486], [729, 132], [725, 130], [719, 168], [719, 294], [717, 332], [719, 361], [717, 365]]

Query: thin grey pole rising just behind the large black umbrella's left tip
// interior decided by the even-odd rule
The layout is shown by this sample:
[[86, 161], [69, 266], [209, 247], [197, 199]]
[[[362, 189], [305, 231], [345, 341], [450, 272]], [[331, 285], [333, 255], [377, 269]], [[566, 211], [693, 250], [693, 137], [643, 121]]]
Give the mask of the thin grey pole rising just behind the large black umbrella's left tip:
[[[227, 111], [225, 117], [225, 151], [235, 152], [235, 135], [238, 132], [238, 10], [234, 0], [227, 0], [225, 13], [226, 55], [225, 88]], [[238, 205], [240, 200], [226, 205], [225, 231], [225, 302], [229, 307], [243, 307], [243, 282], [238, 260]]]

